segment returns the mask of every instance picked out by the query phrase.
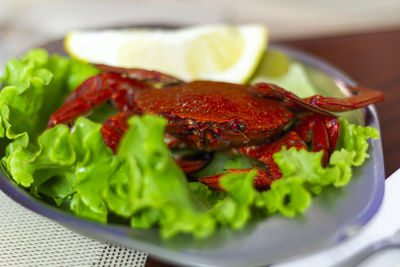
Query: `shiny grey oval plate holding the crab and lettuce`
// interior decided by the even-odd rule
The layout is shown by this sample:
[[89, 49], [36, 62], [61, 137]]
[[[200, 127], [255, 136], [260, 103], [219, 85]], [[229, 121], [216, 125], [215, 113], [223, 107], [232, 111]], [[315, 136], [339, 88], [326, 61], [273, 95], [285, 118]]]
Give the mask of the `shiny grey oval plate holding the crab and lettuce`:
[[[43, 46], [50, 53], [65, 54], [62, 41]], [[321, 94], [348, 94], [343, 83], [354, 82], [335, 67], [305, 53], [272, 45], [293, 60], [302, 63], [310, 80]], [[349, 113], [352, 120], [365, 121], [379, 129], [373, 106]], [[313, 199], [311, 207], [301, 216], [271, 216], [249, 223], [244, 229], [221, 228], [210, 238], [196, 240], [179, 235], [162, 240], [158, 229], [137, 230], [128, 226], [99, 224], [75, 217], [29, 195], [4, 173], [0, 188], [21, 205], [46, 216], [83, 235], [124, 245], [150, 253], [152, 256], [180, 264], [251, 266], [281, 262], [302, 254], [337, 244], [367, 223], [378, 210], [384, 193], [384, 167], [381, 141], [371, 141], [370, 158], [362, 167], [354, 168], [348, 186], [328, 189]]]

